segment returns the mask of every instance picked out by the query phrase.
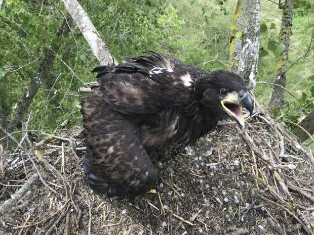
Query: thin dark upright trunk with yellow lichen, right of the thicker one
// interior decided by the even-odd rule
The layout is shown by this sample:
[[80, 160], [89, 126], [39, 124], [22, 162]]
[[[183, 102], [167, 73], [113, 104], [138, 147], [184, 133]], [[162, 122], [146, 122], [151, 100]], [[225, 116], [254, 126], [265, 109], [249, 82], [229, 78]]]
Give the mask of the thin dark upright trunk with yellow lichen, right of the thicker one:
[[[294, 0], [286, 0], [283, 8], [283, 17], [279, 33], [279, 42], [285, 45], [285, 50], [276, 57], [276, 75], [274, 84], [286, 86], [286, 66], [288, 61], [289, 42], [291, 36]], [[275, 109], [275, 116], [279, 113], [284, 104], [284, 89], [274, 85], [268, 107]]]

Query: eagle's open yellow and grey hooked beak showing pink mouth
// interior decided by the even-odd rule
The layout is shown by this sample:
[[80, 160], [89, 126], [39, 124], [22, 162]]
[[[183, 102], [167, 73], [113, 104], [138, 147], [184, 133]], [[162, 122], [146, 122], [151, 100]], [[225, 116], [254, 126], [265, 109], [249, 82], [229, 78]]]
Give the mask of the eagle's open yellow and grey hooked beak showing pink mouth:
[[226, 113], [244, 128], [243, 108], [247, 109], [251, 116], [254, 110], [254, 98], [246, 90], [241, 90], [239, 93], [233, 91], [228, 93], [226, 98], [221, 101], [221, 105]]

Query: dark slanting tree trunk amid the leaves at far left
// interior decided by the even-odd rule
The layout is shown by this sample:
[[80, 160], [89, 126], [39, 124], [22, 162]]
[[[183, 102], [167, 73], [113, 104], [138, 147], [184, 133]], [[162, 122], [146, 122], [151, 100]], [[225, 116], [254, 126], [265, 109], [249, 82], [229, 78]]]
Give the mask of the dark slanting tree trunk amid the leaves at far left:
[[[70, 22], [71, 19], [64, 20], [64, 22], [57, 31], [56, 38], [67, 37], [68, 33], [70, 32], [70, 29], [68, 27], [68, 24], [70, 24]], [[7, 131], [9, 133], [12, 132], [17, 124], [22, 120], [41, 85], [43, 83], [51, 83], [51, 81], [48, 81], [49, 71], [52, 69], [55, 61], [55, 52], [57, 53], [59, 51], [60, 46], [60, 44], [56, 44], [52, 47], [52, 49], [47, 49], [46, 56], [39, 65], [36, 75], [30, 78], [30, 82], [25, 92], [23, 93], [23, 96], [17, 102], [16, 108], [13, 111], [12, 118], [9, 121], [9, 126], [7, 128]]]

